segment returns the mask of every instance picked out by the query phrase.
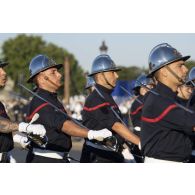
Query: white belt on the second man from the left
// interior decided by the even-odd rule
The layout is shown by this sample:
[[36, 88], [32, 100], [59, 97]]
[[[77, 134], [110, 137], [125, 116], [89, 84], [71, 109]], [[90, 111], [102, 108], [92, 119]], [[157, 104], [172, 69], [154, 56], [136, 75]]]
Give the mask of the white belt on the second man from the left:
[[39, 148], [33, 148], [33, 154], [38, 155], [38, 156], [43, 156], [47, 158], [56, 158], [56, 159], [63, 159], [64, 157], [64, 152], [56, 152], [52, 150], [42, 150]]

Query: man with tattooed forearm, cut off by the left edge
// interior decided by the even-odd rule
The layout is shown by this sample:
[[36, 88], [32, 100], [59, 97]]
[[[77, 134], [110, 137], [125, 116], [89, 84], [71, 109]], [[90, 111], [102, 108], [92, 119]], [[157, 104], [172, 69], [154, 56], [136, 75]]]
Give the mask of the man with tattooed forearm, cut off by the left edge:
[[[3, 88], [7, 81], [7, 75], [4, 70], [4, 67], [8, 65], [8, 62], [0, 60], [0, 87]], [[23, 147], [26, 147], [27, 137], [24, 135], [15, 134], [12, 136], [12, 133], [16, 131], [20, 132], [32, 132], [37, 135], [44, 135], [45, 129], [42, 125], [29, 125], [27, 123], [14, 123], [11, 122], [9, 116], [6, 113], [5, 107], [0, 102], [0, 162], [6, 163], [10, 162], [9, 152], [14, 147], [14, 142], [19, 143]]]

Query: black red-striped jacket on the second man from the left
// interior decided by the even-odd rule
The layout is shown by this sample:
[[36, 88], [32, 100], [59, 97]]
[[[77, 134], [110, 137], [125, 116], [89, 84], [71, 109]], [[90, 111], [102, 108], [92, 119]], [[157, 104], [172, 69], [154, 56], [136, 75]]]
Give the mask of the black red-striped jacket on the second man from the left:
[[[63, 105], [57, 99], [56, 93], [38, 89], [37, 94], [66, 112]], [[48, 137], [46, 149], [69, 152], [72, 147], [71, 137], [61, 131], [63, 123], [68, 117], [37, 97], [34, 97], [29, 104], [27, 120], [30, 121], [35, 113], [38, 113], [40, 116], [36, 123], [42, 124], [46, 128], [46, 135]]]

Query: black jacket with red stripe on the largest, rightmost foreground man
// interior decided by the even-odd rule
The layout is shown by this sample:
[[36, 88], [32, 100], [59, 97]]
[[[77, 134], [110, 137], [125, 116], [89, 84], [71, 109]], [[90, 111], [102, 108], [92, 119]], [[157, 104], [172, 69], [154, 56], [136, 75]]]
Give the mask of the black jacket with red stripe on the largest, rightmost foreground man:
[[144, 101], [142, 110], [141, 145], [145, 156], [183, 162], [192, 150], [189, 135], [195, 127], [195, 114], [179, 108], [177, 93], [162, 83]]

